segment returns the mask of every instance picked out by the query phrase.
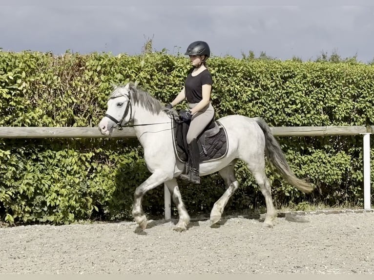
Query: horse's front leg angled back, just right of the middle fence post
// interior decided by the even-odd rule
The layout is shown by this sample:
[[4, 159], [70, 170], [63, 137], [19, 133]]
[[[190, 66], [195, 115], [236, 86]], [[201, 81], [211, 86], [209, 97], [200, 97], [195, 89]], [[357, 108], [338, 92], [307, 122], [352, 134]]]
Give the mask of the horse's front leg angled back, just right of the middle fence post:
[[189, 223], [189, 216], [185, 204], [182, 201], [182, 196], [179, 192], [177, 180], [174, 178], [172, 180], [166, 181], [165, 184], [168, 190], [170, 191], [170, 195], [173, 198], [173, 201], [178, 209], [179, 221], [175, 225], [174, 230], [185, 231], [187, 230], [187, 225]]

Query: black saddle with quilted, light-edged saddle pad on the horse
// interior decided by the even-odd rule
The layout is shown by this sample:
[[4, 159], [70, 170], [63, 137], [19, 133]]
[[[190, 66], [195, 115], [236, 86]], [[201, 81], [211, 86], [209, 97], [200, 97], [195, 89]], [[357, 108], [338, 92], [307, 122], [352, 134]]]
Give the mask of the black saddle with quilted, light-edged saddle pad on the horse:
[[[189, 122], [182, 121], [179, 116], [175, 115], [173, 115], [171, 119], [176, 158], [181, 162], [186, 163], [188, 160], [188, 144], [186, 137]], [[213, 117], [203, 132], [197, 137], [197, 143], [200, 152], [200, 163], [209, 160], [219, 160], [225, 157], [228, 147], [228, 138], [225, 127], [218, 120], [214, 120]]]

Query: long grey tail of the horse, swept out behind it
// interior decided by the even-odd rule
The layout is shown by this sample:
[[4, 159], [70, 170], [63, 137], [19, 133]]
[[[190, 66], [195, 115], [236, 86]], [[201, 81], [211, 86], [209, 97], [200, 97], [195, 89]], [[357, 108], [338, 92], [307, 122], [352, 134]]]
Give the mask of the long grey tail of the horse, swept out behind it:
[[314, 189], [312, 184], [296, 178], [281, 149], [280, 144], [271, 133], [269, 125], [261, 118], [254, 118], [265, 135], [265, 152], [273, 166], [281, 173], [289, 184], [303, 193], [310, 193]]

